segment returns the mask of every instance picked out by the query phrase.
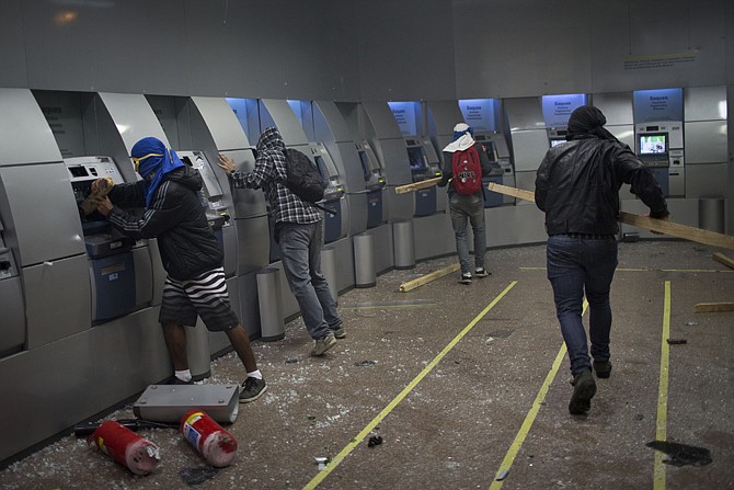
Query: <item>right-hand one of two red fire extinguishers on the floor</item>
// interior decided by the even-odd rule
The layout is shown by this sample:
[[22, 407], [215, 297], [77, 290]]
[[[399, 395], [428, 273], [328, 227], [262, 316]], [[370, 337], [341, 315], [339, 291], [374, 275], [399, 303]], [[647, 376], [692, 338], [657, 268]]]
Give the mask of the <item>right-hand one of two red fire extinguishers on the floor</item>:
[[181, 432], [209, 465], [222, 468], [232, 463], [237, 440], [205, 412], [190, 410], [184, 413]]

